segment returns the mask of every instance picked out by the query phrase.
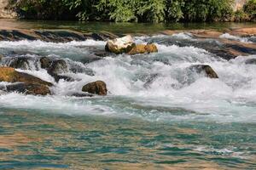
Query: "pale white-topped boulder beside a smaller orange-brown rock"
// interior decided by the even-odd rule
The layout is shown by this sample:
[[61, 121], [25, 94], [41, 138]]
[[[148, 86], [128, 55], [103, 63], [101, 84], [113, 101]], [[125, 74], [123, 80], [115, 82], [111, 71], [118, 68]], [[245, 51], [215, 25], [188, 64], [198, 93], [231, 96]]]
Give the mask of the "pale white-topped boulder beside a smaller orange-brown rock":
[[131, 48], [135, 47], [132, 37], [125, 36], [108, 40], [105, 50], [114, 54], [129, 53]]

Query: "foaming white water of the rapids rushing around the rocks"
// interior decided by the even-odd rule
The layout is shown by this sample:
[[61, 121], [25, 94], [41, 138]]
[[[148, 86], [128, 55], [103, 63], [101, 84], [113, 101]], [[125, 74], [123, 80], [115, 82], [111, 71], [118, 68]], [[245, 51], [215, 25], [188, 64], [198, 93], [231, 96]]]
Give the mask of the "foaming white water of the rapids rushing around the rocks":
[[[148, 38], [148, 37], [147, 37]], [[147, 39], [146, 38], [146, 39]], [[178, 34], [175, 38], [192, 38]], [[137, 37], [144, 42], [145, 37]], [[144, 42], [145, 43], [145, 42]], [[41, 41], [0, 42], [0, 52], [10, 50], [22, 54], [68, 57], [90, 54], [83, 47], [104, 48], [105, 42], [53, 43]], [[256, 122], [256, 65], [246, 65], [241, 56], [226, 61], [194, 47], [157, 44], [158, 54], [130, 56], [120, 54], [86, 64], [95, 76], [67, 73], [75, 82], [54, 82], [47, 71], [25, 71], [45, 81], [54, 82], [54, 96], [37, 97], [22, 94], [0, 95], [0, 107], [53, 111], [61, 114], [100, 114], [139, 116], [150, 121], [216, 121]], [[81, 48], [82, 47], [82, 48]], [[219, 79], [189, 72], [190, 65], [206, 64], [218, 73]], [[19, 70], [20, 71], [20, 70]], [[154, 81], [144, 86], [150, 75]], [[84, 84], [102, 80], [107, 83], [108, 97], [74, 98], [67, 94], [80, 92]], [[177, 108], [182, 110], [177, 111]]]

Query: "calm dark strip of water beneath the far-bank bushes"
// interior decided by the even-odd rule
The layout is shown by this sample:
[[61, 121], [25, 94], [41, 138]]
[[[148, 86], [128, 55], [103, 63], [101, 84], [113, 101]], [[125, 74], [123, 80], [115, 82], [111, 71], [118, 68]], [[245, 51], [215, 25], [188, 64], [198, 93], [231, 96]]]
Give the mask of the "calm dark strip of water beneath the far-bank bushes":
[[113, 22], [86, 22], [86, 21], [56, 21], [56, 20], [0, 20], [0, 28], [10, 29], [68, 29], [84, 32], [111, 31], [113, 33], [155, 33], [165, 30], [194, 30], [252, 27], [256, 24], [248, 23], [113, 23]]

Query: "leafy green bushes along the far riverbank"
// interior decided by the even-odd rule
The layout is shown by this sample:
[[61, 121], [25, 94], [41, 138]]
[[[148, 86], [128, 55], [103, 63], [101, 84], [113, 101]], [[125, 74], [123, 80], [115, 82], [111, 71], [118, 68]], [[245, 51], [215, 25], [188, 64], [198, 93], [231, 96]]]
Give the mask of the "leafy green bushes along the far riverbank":
[[12, 0], [21, 17], [49, 20], [178, 22], [255, 20], [256, 0], [233, 12], [234, 0]]

